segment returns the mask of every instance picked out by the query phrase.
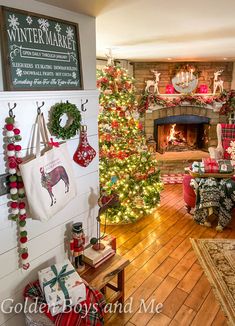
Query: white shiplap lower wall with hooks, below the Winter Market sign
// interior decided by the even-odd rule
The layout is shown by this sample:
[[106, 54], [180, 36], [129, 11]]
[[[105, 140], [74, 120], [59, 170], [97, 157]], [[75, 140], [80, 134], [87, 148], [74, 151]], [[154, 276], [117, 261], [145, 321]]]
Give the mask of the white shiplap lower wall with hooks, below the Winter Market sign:
[[[87, 111], [84, 113], [88, 125], [88, 140], [98, 153], [97, 137], [97, 91], [66, 91], [66, 92], [2, 92], [0, 93], [0, 126], [4, 126], [4, 119], [8, 115], [8, 103], [17, 103], [14, 111], [16, 120], [22, 131], [21, 145], [23, 151], [28, 146], [32, 124], [37, 115], [36, 102], [45, 102], [42, 108], [47, 121], [48, 110], [60, 101], [69, 100], [78, 107], [81, 100], [88, 99]], [[79, 143], [79, 135], [67, 141], [71, 160]], [[37, 271], [51, 263], [63, 260], [67, 256], [71, 224], [83, 222], [88, 237], [94, 236], [96, 231], [97, 196], [98, 196], [98, 155], [86, 168], [73, 162], [77, 184], [77, 197], [72, 200], [61, 212], [48, 222], [32, 219], [27, 221], [28, 248], [31, 269], [22, 271], [18, 268], [18, 241], [15, 222], [8, 220], [7, 196], [0, 197], [0, 300], [12, 297], [15, 303], [22, 300], [24, 286], [37, 278]], [[3, 153], [3, 137], [0, 138], [0, 174], [5, 172]], [[0, 325], [10, 325], [11, 318], [20, 318], [0, 313]], [[17, 321], [17, 325], [18, 321]], [[23, 319], [22, 319], [22, 325]]]

